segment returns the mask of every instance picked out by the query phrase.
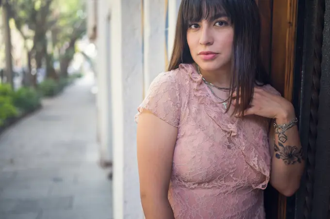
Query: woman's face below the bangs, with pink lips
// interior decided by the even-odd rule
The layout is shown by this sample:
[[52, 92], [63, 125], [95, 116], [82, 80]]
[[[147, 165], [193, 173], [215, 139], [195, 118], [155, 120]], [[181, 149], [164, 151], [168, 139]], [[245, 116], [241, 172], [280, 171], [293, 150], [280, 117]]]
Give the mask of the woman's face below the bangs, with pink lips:
[[192, 22], [187, 30], [187, 43], [194, 61], [206, 71], [230, 70], [233, 27], [226, 16]]

